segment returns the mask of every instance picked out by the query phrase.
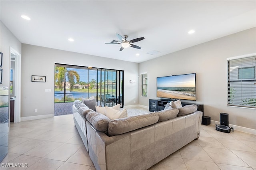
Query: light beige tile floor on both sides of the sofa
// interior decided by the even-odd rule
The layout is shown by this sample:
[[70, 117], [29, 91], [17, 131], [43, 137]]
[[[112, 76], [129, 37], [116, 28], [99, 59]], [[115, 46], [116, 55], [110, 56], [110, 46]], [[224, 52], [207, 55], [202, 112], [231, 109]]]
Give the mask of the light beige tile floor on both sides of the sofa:
[[[23, 168], [2, 167], [23, 163]], [[72, 115], [11, 123], [1, 170], [95, 170]], [[149, 170], [256, 170], [256, 135], [201, 125], [201, 135]]]

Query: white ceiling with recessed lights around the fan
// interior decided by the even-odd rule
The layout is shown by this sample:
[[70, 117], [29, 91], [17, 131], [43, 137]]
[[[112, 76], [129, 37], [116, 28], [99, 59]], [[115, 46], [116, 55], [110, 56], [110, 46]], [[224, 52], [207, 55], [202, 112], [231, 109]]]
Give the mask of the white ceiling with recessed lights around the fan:
[[[0, 3], [1, 21], [22, 43], [137, 63], [256, 27], [255, 0]], [[105, 44], [118, 40], [116, 33], [127, 40], [144, 37], [134, 43], [141, 49]], [[147, 54], [152, 50], [161, 53]]]

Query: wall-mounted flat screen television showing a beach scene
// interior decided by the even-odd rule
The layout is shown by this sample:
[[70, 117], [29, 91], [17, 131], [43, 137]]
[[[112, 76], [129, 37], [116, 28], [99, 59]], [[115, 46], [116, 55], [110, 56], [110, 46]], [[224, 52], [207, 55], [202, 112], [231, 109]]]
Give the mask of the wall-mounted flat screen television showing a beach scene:
[[156, 78], [156, 97], [196, 100], [196, 73]]

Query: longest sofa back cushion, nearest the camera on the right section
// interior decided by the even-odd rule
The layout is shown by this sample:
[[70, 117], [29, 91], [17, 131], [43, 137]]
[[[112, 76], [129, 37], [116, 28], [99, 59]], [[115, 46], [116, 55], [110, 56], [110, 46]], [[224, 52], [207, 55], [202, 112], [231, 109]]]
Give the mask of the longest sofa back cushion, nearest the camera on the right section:
[[122, 119], [115, 119], [108, 124], [108, 135], [114, 136], [136, 130], [138, 128], [146, 127], [157, 123], [158, 115], [156, 113], [149, 113], [144, 115], [137, 115], [126, 117]]

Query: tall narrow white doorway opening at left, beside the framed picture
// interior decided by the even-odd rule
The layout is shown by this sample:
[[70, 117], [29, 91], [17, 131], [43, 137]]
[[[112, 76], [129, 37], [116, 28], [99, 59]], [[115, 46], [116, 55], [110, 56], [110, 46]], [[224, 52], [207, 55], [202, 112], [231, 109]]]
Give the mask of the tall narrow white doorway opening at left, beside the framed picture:
[[[10, 110], [14, 112], [14, 123], [20, 122], [21, 101], [21, 55], [10, 47]], [[11, 105], [12, 103], [12, 105]], [[12, 107], [12, 108], [11, 108]]]

